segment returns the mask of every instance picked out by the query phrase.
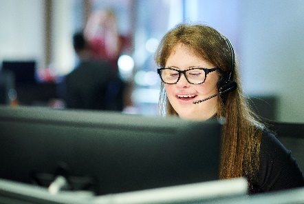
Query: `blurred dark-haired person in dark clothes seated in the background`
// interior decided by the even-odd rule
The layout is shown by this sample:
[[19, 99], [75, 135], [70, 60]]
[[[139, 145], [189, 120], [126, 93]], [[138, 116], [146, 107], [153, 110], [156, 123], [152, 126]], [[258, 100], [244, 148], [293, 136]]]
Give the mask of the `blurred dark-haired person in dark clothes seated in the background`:
[[111, 63], [91, 56], [83, 32], [73, 36], [78, 62], [63, 80], [66, 108], [122, 111], [124, 83]]

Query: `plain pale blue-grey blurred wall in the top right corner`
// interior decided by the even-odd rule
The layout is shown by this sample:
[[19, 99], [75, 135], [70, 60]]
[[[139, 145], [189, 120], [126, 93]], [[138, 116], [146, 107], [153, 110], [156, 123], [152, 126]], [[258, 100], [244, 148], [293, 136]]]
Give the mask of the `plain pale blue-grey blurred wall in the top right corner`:
[[278, 97], [280, 121], [304, 122], [304, 1], [239, 1], [246, 92]]

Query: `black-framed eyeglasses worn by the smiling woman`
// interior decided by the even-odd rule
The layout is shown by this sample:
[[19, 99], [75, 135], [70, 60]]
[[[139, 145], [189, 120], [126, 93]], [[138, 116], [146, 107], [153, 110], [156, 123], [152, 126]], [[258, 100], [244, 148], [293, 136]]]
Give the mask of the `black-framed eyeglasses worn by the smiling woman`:
[[174, 84], [180, 80], [180, 75], [184, 74], [188, 83], [200, 84], [204, 83], [207, 74], [219, 70], [219, 68], [207, 69], [207, 68], [190, 68], [188, 70], [176, 70], [174, 68], [158, 68], [158, 74], [162, 82]]

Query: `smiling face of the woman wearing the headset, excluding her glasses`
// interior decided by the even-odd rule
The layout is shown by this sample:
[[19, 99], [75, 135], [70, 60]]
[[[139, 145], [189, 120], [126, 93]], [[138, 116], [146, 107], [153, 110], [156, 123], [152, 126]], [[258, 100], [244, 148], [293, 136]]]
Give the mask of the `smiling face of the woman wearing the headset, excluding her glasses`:
[[[197, 56], [186, 45], [177, 44], [166, 61], [166, 68], [174, 67], [178, 70], [187, 70], [190, 67], [215, 68], [214, 65]], [[218, 72], [210, 72], [206, 81], [202, 84], [191, 84], [186, 81], [184, 74], [175, 84], [164, 84], [168, 99], [182, 119], [206, 120], [217, 112], [217, 98], [209, 99], [202, 103], [194, 104], [194, 101], [206, 99], [217, 94]]]

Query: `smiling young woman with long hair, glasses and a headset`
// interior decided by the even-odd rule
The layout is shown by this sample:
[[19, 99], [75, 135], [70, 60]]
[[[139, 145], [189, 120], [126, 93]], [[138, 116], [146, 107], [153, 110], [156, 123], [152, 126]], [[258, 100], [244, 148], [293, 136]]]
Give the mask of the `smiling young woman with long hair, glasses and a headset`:
[[155, 61], [163, 115], [225, 119], [220, 179], [244, 176], [250, 193], [304, 186], [290, 151], [250, 111], [226, 37], [210, 26], [180, 24], [164, 35]]

